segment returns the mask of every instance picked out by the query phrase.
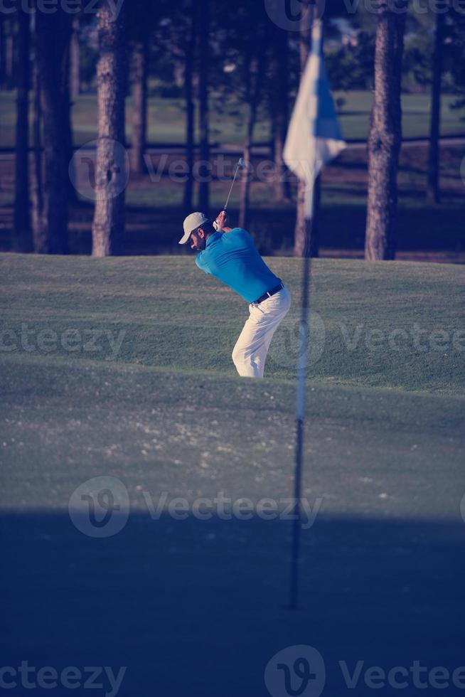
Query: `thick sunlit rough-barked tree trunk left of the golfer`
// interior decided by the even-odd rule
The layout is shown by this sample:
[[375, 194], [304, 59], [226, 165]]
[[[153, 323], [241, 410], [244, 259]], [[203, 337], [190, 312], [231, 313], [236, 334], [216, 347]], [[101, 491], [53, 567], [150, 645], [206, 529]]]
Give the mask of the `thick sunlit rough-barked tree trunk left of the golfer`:
[[100, 58], [97, 63], [98, 145], [92, 255], [123, 252], [124, 186], [124, 6], [112, 21], [110, 0], [98, 12]]

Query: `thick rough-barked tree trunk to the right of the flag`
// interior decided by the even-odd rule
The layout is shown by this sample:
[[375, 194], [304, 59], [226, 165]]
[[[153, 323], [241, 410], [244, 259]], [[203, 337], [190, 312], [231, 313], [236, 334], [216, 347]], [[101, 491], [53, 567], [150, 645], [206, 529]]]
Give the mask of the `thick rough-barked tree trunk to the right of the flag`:
[[380, 5], [375, 47], [375, 95], [368, 135], [365, 259], [394, 259], [397, 165], [402, 144], [400, 88], [407, 0]]

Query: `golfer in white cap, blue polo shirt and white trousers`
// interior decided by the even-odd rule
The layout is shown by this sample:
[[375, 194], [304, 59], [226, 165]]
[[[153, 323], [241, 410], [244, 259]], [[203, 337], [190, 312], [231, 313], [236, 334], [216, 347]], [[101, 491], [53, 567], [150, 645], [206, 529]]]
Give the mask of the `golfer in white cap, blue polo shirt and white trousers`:
[[249, 233], [228, 227], [222, 211], [213, 223], [203, 213], [191, 213], [184, 220], [180, 245], [197, 250], [196, 264], [215, 276], [249, 303], [249, 319], [232, 349], [237, 373], [245, 378], [262, 378], [269, 344], [279, 322], [291, 307], [291, 294], [255, 249]]

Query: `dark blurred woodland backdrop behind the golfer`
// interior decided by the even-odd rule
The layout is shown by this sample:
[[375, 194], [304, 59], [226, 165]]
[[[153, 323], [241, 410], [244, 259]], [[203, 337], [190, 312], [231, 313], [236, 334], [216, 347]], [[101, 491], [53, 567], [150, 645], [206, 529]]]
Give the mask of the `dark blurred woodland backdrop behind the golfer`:
[[[371, 5], [319, 6], [348, 147], [319, 181], [315, 256], [364, 255], [378, 27]], [[464, 262], [465, 13], [456, 3], [437, 5], [410, 3], [405, 23], [396, 255]], [[183, 216], [220, 211], [243, 155], [250, 167], [232, 193], [232, 223], [250, 230], [262, 254], [298, 253], [297, 187], [282, 148], [309, 49], [304, 6], [82, 0], [70, 11], [57, 0], [49, 14], [32, 0], [5, 6], [0, 250], [186, 253], [176, 244]], [[110, 102], [124, 104], [111, 124]], [[112, 151], [117, 188], [98, 213], [100, 223], [99, 137], [121, 146], [119, 155]], [[99, 247], [98, 225], [116, 225], [117, 242]]]

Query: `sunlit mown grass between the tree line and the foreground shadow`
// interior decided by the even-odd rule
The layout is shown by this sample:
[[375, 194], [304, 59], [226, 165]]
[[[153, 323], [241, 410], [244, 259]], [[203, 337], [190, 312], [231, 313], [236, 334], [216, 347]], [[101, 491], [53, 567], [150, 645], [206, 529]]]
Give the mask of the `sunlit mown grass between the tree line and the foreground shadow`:
[[[31, 467], [33, 500], [47, 506], [60, 507], [70, 482], [96, 471], [134, 476], [136, 486], [146, 466], [154, 486], [210, 490], [224, 458], [231, 473], [222, 474], [223, 484], [234, 491], [285, 491], [300, 262], [274, 257], [269, 264], [291, 289], [293, 306], [272, 342], [265, 379], [255, 382], [239, 378], [230, 358], [247, 305], [192, 258], [3, 255], [1, 328], [10, 334], [2, 336], [15, 346], [0, 356], [12, 487], [3, 505], [20, 505], [21, 477]], [[314, 262], [306, 447], [319, 472], [311, 491], [338, 492], [331, 510], [361, 509], [342, 482], [326, 481], [328, 458], [341, 476], [348, 464], [360, 477], [379, 470], [374, 486], [381, 489], [390, 462], [397, 474], [419, 454], [431, 467], [438, 458], [459, 462], [463, 300], [461, 267]], [[66, 331], [78, 333], [68, 339], [73, 351], [60, 346]], [[100, 332], [95, 348], [92, 331]], [[401, 333], [394, 345], [393, 331]], [[108, 332], [122, 338], [120, 347], [111, 348]], [[48, 477], [40, 481], [43, 468], [55, 494]], [[409, 498], [400, 501], [406, 515]], [[379, 502], [372, 504], [376, 513]], [[435, 505], [438, 514], [443, 504]], [[428, 497], [415, 510], [424, 505], [432, 505]]]

